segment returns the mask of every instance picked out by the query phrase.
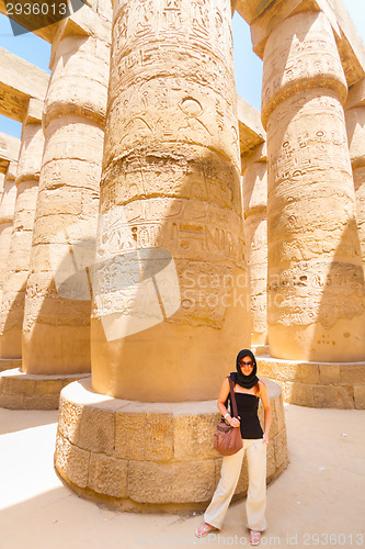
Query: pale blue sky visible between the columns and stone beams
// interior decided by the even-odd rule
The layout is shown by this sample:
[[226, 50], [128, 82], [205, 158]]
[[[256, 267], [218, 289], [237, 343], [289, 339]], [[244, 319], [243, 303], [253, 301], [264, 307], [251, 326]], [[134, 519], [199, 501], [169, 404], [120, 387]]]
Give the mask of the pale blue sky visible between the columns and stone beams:
[[[365, 42], [365, 1], [343, 0], [343, 3]], [[233, 15], [232, 30], [237, 91], [260, 110], [262, 61], [252, 52], [249, 25], [237, 13]], [[33, 33], [13, 36], [5, 15], [0, 15], [0, 46], [49, 72], [50, 44]], [[20, 137], [21, 124], [0, 115], [0, 132]]]

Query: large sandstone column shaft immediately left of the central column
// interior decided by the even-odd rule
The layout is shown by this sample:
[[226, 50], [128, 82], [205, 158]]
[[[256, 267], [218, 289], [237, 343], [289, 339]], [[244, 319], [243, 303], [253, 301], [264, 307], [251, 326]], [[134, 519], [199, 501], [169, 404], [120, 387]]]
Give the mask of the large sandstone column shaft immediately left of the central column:
[[[66, 27], [43, 116], [45, 149], [23, 324], [26, 373], [90, 370], [91, 302], [82, 284], [96, 227], [107, 78], [107, 44], [70, 35]], [[71, 291], [67, 283], [62, 291], [66, 280]]]

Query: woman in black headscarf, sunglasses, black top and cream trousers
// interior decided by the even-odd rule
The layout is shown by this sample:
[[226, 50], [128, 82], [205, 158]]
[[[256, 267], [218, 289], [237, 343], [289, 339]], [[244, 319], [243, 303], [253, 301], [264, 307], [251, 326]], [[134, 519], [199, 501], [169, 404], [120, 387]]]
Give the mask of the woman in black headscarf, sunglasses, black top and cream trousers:
[[[247, 451], [249, 470], [249, 489], [247, 494], [247, 526], [250, 529], [250, 544], [259, 545], [261, 533], [266, 528], [266, 448], [271, 424], [271, 408], [267, 389], [256, 377], [256, 360], [249, 349], [241, 350], [236, 360], [237, 372], [230, 378], [235, 383], [235, 396], [238, 418], [231, 417], [227, 410], [229, 382], [225, 378], [219, 396], [218, 408], [226, 422], [232, 427], [240, 427], [243, 448], [233, 456], [223, 458], [220, 480], [213, 500], [204, 513], [204, 523], [196, 530], [197, 537], [220, 529], [229, 503], [235, 493], [240, 475], [244, 452]], [[264, 407], [264, 429], [260, 425], [258, 408], [259, 399]]]

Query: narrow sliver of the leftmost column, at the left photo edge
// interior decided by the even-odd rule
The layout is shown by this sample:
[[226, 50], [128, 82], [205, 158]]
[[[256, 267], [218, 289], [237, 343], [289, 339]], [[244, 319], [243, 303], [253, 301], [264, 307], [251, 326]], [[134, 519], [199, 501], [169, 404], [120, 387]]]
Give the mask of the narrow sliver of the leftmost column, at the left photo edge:
[[2, 301], [3, 282], [7, 276], [11, 233], [13, 229], [16, 197], [16, 165], [15, 161], [9, 163], [0, 202], [0, 303]]

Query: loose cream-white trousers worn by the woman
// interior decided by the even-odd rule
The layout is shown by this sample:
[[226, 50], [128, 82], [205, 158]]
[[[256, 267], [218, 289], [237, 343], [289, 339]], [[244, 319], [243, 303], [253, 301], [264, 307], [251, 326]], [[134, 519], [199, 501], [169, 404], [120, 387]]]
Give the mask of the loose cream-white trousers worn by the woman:
[[220, 480], [213, 500], [204, 513], [204, 520], [215, 528], [221, 528], [228, 506], [235, 493], [247, 452], [249, 490], [246, 501], [247, 527], [262, 531], [266, 528], [266, 445], [262, 438], [243, 438], [243, 448], [233, 456], [225, 456], [221, 462]]

